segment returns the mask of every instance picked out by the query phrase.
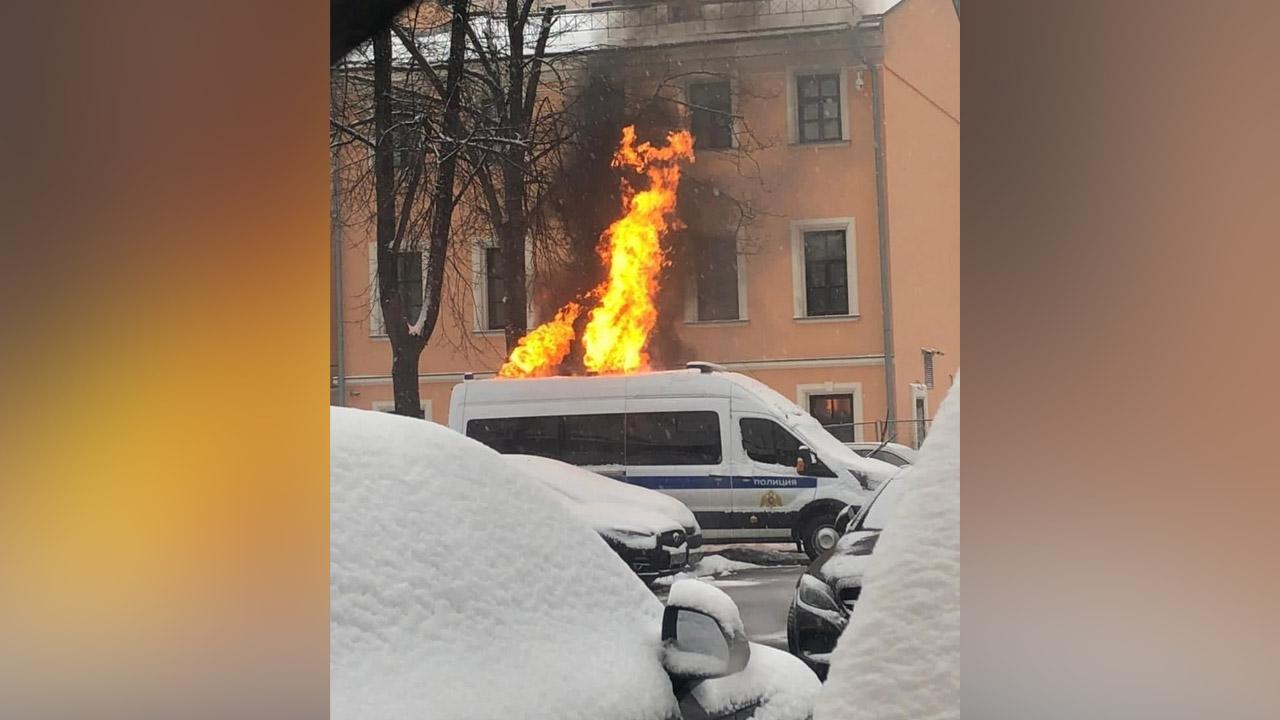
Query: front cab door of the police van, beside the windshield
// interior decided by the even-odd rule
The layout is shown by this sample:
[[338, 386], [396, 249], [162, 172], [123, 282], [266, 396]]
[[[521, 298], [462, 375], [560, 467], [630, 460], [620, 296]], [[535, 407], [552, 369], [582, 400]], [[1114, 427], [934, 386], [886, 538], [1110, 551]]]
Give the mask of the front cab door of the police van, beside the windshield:
[[[735, 413], [732, 438], [733, 515], [742, 533], [760, 538], [791, 537], [791, 527], [817, 495], [818, 478], [796, 471], [803, 445], [764, 414]], [[808, 470], [808, 469], [806, 469]]]

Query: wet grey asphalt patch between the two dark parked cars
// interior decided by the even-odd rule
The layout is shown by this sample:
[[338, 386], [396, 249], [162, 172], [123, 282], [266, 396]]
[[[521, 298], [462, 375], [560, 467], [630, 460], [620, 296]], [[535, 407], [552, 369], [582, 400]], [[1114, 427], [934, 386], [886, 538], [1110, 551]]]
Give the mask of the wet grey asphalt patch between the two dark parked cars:
[[[737, 570], [716, 578], [700, 578], [733, 598], [746, 635], [753, 642], [787, 648], [787, 609], [795, 594], [796, 580], [804, 573], [804, 565], [785, 565], [773, 568], [751, 568]], [[658, 597], [667, 600], [666, 587], [655, 587]]]

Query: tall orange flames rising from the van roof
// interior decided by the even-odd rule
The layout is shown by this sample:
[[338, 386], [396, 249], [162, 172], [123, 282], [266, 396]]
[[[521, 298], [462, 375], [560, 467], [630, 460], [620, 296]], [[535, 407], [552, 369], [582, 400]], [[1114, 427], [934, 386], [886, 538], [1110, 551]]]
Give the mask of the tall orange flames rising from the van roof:
[[[600, 236], [600, 259], [608, 278], [590, 296], [596, 299], [582, 331], [582, 363], [594, 373], [635, 373], [649, 369], [649, 334], [658, 322], [654, 296], [662, 270], [662, 238], [678, 220], [676, 190], [681, 161], [694, 160], [694, 137], [687, 131], [667, 135], [664, 147], [636, 145], [634, 126], [622, 128], [613, 155], [614, 168], [631, 168], [649, 178], [646, 190], [623, 181], [625, 214]], [[556, 318], [520, 338], [520, 345], [498, 370], [504, 378], [553, 374], [568, 355], [573, 322], [581, 307], [564, 305]]]

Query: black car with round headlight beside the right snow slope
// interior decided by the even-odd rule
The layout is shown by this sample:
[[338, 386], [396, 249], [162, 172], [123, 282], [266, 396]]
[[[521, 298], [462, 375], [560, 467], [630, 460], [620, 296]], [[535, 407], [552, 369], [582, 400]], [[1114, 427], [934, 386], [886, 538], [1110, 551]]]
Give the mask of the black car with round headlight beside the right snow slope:
[[902, 475], [884, 483], [849, 523], [836, 547], [813, 561], [796, 582], [787, 611], [787, 650], [819, 678], [827, 676], [831, 652], [861, 594], [867, 562], [906, 487]]

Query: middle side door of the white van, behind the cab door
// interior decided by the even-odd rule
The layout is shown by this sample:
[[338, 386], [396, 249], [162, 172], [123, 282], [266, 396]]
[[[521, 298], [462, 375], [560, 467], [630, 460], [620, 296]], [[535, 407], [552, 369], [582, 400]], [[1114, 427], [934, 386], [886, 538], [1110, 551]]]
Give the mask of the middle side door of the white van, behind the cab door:
[[733, 510], [726, 442], [728, 398], [627, 398], [626, 480], [684, 502], [707, 538]]

